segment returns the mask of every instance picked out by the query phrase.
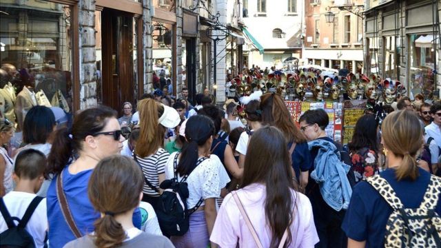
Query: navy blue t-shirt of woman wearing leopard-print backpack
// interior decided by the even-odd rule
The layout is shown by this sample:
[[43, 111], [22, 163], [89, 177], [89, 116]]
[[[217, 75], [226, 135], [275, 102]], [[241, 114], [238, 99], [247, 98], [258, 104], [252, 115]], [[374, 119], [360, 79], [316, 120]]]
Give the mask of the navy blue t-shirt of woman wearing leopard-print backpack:
[[[418, 208], [429, 184], [430, 174], [419, 168], [420, 176], [415, 180], [396, 180], [395, 170], [387, 169], [380, 176], [396, 192], [405, 208]], [[441, 197], [435, 211], [441, 215]], [[392, 207], [369, 183], [358, 183], [352, 192], [342, 229], [346, 235], [357, 241], [366, 240], [366, 247], [384, 247], [386, 223]]]

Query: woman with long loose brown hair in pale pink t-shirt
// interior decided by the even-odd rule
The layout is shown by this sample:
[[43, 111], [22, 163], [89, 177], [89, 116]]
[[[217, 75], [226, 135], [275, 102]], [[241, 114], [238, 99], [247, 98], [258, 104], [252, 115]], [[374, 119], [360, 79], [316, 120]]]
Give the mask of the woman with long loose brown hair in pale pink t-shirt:
[[210, 240], [223, 248], [258, 247], [259, 242], [271, 248], [314, 247], [318, 236], [311, 203], [296, 192], [284, 134], [276, 127], [257, 130], [244, 169], [240, 189], [223, 200]]

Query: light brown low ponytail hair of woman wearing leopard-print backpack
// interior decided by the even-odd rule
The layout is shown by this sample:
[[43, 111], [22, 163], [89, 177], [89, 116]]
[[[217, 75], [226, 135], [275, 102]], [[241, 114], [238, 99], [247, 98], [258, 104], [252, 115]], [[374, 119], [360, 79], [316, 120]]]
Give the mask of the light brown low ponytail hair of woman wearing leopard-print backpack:
[[388, 114], [382, 123], [384, 147], [402, 157], [396, 169], [396, 178], [416, 180], [419, 176], [416, 156], [422, 147], [424, 132], [418, 117], [411, 111], [400, 110]]

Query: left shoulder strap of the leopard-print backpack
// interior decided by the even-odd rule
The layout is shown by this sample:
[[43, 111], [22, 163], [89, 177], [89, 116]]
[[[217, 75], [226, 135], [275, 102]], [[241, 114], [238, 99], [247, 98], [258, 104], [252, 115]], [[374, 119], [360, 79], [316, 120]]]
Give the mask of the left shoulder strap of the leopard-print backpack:
[[404, 208], [400, 198], [395, 194], [391, 185], [387, 183], [387, 180], [382, 178], [380, 175], [369, 176], [366, 178], [367, 183], [372, 185], [374, 189], [386, 200], [393, 209], [398, 210]]

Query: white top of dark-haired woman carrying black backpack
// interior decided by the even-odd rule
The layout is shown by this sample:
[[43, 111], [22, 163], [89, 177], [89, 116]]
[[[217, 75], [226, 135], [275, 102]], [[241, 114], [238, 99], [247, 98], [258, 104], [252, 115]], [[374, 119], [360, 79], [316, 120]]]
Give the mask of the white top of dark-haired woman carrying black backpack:
[[[165, 178], [174, 178], [174, 156], [176, 152], [170, 154], [170, 157], [165, 165]], [[179, 163], [179, 160], [177, 161]], [[178, 180], [181, 180], [178, 176]], [[229, 176], [225, 171], [220, 159], [216, 155], [211, 155], [200, 163], [187, 180], [189, 197], [187, 198], [187, 207], [190, 209], [203, 198], [219, 198], [220, 189], [223, 189], [229, 183]], [[201, 206], [205, 205], [203, 202]]]

